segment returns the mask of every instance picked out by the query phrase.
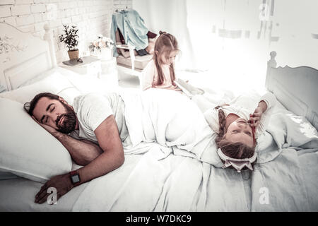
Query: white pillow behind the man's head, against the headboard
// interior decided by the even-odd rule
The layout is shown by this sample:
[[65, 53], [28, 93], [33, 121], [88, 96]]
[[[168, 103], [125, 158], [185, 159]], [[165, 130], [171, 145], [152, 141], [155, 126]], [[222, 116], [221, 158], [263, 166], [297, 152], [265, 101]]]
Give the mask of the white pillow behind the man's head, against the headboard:
[[45, 92], [63, 97], [70, 105], [73, 104], [74, 97], [82, 94], [65, 76], [59, 73], [59, 71], [52, 71], [52, 74], [46, 78], [16, 90], [1, 93], [0, 97], [16, 100], [24, 104], [25, 102], [30, 102], [38, 93]]

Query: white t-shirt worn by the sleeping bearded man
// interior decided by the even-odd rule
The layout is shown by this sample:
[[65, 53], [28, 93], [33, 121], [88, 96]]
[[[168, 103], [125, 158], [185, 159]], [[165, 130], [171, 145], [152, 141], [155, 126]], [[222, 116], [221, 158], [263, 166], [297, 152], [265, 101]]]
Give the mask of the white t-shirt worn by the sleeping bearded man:
[[80, 95], [74, 98], [73, 109], [78, 119], [78, 130], [69, 134], [73, 138], [84, 138], [98, 143], [94, 133], [95, 129], [97, 129], [107, 117], [114, 115], [123, 145], [125, 142], [129, 143], [129, 133], [124, 117], [125, 105], [119, 94], [108, 93], [106, 95], [100, 95], [90, 93]]

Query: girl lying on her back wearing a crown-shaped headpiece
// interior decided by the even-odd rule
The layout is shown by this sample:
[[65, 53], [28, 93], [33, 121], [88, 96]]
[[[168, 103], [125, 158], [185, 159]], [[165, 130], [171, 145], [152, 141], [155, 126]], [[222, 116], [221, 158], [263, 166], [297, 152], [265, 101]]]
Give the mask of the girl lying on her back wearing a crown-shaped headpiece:
[[237, 97], [231, 102], [235, 102], [235, 105], [225, 104], [208, 109], [204, 117], [218, 134], [216, 145], [223, 168], [232, 167], [237, 172], [242, 169], [253, 170], [257, 160], [256, 140], [269, 124], [276, 97], [271, 93], [263, 95], [253, 114], [249, 112], [254, 107], [242, 107], [251, 102], [249, 97]]

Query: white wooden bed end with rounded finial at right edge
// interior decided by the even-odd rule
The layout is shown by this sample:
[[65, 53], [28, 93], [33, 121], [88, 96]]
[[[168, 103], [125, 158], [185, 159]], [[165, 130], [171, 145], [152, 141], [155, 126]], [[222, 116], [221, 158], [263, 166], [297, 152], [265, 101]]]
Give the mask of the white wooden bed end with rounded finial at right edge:
[[306, 117], [318, 130], [318, 70], [309, 66], [276, 67], [276, 52], [267, 63], [266, 88], [291, 112]]

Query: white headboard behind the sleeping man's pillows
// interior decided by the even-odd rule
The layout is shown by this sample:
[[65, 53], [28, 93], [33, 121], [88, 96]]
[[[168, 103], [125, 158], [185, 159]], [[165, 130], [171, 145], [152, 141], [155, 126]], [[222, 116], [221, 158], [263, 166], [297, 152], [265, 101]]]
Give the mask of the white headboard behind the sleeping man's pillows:
[[45, 25], [42, 40], [7, 23], [0, 23], [0, 84], [14, 90], [57, 65], [52, 33]]

